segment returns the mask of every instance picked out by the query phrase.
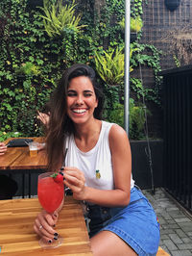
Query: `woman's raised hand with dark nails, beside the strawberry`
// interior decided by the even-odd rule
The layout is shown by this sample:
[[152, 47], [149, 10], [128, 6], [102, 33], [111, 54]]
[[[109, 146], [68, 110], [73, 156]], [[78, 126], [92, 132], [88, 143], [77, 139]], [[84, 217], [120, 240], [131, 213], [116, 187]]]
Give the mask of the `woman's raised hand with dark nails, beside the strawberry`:
[[84, 172], [76, 167], [65, 166], [63, 174], [64, 185], [67, 186], [73, 192], [73, 197], [77, 200], [84, 200]]

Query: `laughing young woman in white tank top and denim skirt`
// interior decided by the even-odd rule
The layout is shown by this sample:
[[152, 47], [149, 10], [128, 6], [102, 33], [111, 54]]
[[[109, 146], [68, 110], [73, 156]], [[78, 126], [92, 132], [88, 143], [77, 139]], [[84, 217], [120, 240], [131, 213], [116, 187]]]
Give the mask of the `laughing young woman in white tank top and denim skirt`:
[[[51, 99], [49, 170], [60, 169], [68, 148], [64, 184], [86, 205], [93, 255], [156, 255], [156, 214], [134, 186], [126, 132], [101, 120], [103, 103], [91, 67], [75, 64], [63, 73]], [[58, 215], [42, 212], [35, 220], [36, 233], [47, 243], [57, 239]]]

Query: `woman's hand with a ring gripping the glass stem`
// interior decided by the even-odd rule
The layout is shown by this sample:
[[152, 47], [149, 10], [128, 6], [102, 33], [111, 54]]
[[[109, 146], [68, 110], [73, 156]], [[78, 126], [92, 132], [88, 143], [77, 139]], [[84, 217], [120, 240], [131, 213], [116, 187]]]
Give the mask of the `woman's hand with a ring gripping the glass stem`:
[[58, 233], [54, 229], [58, 217], [59, 214], [57, 212], [52, 215], [44, 210], [37, 215], [34, 223], [34, 230], [45, 243], [52, 243], [54, 240], [58, 239]]

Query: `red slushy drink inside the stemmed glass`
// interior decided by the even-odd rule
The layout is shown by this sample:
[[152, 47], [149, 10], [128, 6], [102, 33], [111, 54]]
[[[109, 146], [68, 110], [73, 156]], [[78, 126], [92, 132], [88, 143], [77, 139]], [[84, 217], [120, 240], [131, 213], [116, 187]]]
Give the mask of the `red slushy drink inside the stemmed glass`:
[[38, 179], [38, 200], [45, 211], [54, 213], [63, 199], [63, 182], [57, 182], [53, 177]]

